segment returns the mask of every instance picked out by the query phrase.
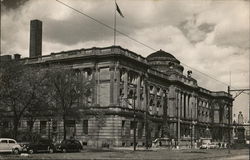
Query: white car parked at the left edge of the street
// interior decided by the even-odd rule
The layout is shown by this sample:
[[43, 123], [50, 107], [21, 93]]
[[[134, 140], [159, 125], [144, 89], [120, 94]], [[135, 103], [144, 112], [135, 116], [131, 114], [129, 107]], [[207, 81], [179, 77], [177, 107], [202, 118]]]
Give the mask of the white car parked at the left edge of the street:
[[21, 151], [22, 147], [14, 139], [0, 138], [0, 152], [19, 154]]

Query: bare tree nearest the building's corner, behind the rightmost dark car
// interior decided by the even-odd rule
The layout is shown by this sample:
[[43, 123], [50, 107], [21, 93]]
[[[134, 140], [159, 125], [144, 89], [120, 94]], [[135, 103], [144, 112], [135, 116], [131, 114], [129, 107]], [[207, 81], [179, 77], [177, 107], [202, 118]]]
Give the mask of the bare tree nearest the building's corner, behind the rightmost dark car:
[[53, 114], [63, 120], [63, 138], [66, 139], [66, 123], [70, 119], [79, 119], [84, 109], [82, 100], [89, 96], [92, 83], [80, 71], [53, 66], [47, 69], [48, 102]]

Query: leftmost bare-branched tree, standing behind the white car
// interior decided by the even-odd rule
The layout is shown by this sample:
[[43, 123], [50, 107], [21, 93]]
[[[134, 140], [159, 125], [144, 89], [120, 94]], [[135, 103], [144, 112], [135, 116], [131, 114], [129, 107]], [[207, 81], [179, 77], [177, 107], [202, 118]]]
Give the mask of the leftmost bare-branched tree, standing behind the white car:
[[18, 61], [1, 62], [0, 106], [10, 111], [13, 138], [17, 138], [18, 125], [28, 108], [36, 108], [44, 92], [45, 74], [38, 67]]

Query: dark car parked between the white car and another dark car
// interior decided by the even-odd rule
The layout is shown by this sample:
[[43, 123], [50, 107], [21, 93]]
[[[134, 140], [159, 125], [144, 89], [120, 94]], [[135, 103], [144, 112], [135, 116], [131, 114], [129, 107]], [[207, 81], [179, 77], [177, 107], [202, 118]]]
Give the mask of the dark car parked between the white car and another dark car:
[[29, 154], [33, 154], [36, 152], [49, 152], [53, 153], [55, 150], [55, 146], [49, 139], [39, 139], [36, 142], [30, 142], [28, 144], [24, 144], [23, 150], [28, 152]]

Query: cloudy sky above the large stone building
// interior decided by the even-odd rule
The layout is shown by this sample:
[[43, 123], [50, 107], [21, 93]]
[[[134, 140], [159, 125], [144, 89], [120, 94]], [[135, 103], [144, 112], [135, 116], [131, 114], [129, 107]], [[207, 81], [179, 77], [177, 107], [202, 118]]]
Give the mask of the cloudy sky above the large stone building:
[[[113, 27], [114, 0], [60, 0]], [[246, 0], [116, 0], [116, 28], [181, 61], [198, 85], [212, 91], [249, 88], [250, 15]], [[1, 53], [29, 54], [30, 20], [43, 21], [42, 54], [113, 45], [114, 31], [56, 0], [1, 0]], [[117, 33], [116, 45], [144, 57], [149, 49]], [[189, 66], [189, 67], [188, 67]], [[231, 76], [230, 76], [231, 75]], [[248, 92], [249, 93], [249, 92]], [[236, 93], [232, 92], [235, 96]], [[233, 111], [249, 117], [249, 95]]]

